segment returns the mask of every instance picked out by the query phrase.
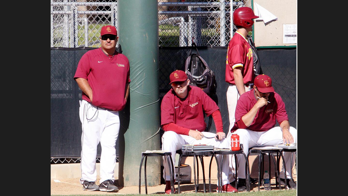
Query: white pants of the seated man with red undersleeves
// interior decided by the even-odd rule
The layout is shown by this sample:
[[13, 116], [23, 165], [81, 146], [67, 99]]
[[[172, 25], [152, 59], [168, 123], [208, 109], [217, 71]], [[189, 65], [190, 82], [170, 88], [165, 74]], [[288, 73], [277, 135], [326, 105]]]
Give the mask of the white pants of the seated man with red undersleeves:
[[[210, 132], [202, 132], [204, 136], [206, 137], [214, 137], [214, 133]], [[174, 131], [165, 131], [162, 136], [162, 150], [170, 151], [172, 152], [172, 159], [173, 164], [175, 165], [175, 154], [177, 150], [181, 150], [182, 145], [185, 144], [206, 144], [206, 145], [212, 145], [216, 148], [228, 148], [228, 140], [216, 140], [215, 138], [205, 138], [203, 137], [201, 140], [196, 140], [195, 138], [188, 136], [188, 135], [181, 135], [177, 134]], [[216, 155], [217, 160], [219, 162], [219, 166], [221, 164], [221, 154]], [[167, 163], [167, 160], [163, 158], [163, 178], [165, 180], [171, 180], [171, 177], [169, 175], [169, 166]], [[193, 167], [192, 167], [193, 168]], [[222, 164], [222, 184], [228, 184], [230, 183], [228, 181], [228, 159], [227, 157], [223, 159]], [[175, 178], [175, 169], [174, 169], [174, 178]]]

